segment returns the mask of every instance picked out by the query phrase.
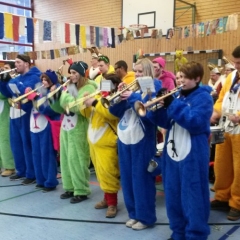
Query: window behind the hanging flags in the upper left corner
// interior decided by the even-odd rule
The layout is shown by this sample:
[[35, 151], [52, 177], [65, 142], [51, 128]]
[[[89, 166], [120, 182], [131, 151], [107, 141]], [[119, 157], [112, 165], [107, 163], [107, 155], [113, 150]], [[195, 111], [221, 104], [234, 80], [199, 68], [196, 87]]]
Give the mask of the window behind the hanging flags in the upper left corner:
[[[32, 0], [5, 0], [0, 1], [1, 12], [8, 12], [13, 15], [32, 17], [33, 16]], [[31, 52], [33, 44], [27, 42], [26, 34], [19, 36], [19, 41], [14, 42], [12, 39], [0, 39], [0, 60], [3, 60], [2, 52]]]

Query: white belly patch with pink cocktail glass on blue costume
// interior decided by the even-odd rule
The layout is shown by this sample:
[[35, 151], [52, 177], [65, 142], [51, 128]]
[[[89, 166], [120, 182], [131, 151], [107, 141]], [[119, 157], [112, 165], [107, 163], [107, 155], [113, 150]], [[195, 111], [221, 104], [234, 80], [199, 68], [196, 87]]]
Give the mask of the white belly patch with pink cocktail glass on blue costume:
[[42, 132], [47, 127], [47, 124], [46, 117], [33, 108], [30, 116], [30, 131], [33, 133]]

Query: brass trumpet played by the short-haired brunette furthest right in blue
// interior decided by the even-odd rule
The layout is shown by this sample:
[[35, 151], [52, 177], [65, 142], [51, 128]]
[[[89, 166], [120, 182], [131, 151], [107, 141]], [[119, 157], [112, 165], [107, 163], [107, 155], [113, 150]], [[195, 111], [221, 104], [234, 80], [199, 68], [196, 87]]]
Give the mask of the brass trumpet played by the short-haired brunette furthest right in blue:
[[147, 103], [142, 103], [140, 101], [136, 101], [134, 104], [134, 109], [139, 116], [144, 117], [147, 113], [147, 109], [149, 109], [150, 111], [157, 110], [159, 108], [159, 106], [158, 105], [155, 106], [155, 105], [158, 104], [159, 101], [163, 100], [166, 97], [173, 95], [174, 93], [178, 92], [181, 88], [182, 88], [182, 85], [174, 88], [169, 93], [167, 93], [161, 97], [156, 97], [156, 98], [152, 99], [151, 101], [149, 101]]

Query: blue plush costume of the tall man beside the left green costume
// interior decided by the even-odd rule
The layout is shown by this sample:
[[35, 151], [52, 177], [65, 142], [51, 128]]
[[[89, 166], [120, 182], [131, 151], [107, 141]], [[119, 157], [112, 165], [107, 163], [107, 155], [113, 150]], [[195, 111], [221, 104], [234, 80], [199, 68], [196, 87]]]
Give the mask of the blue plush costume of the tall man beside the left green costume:
[[[30, 58], [25, 59], [22, 56], [18, 55], [17, 58], [30, 64]], [[23, 95], [27, 87], [34, 89], [36, 83], [40, 82], [40, 75], [41, 72], [36, 67], [32, 67], [25, 74], [11, 79], [5, 86], [2, 86], [2, 93], [9, 98]], [[17, 86], [20, 93], [15, 93], [13, 84]], [[11, 180], [24, 177], [35, 179], [29, 130], [31, 110], [32, 102], [15, 104], [10, 108], [10, 143], [17, 171], [15, 176], [10, 177]]]

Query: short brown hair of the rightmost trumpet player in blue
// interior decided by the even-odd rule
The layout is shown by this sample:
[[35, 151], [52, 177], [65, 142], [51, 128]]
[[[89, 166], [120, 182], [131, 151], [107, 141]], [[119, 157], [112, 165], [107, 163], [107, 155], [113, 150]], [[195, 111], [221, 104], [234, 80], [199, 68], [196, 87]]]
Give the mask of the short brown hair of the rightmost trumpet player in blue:
[[189, 79], [197, 79], [197, 77], [200, 77], [200, 81], [202, 80], [204, 74], [202, 64], [194, 61], [182, 65], [179, 71], [184, 73]]

